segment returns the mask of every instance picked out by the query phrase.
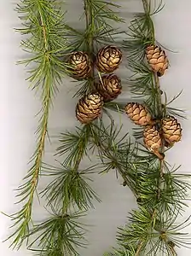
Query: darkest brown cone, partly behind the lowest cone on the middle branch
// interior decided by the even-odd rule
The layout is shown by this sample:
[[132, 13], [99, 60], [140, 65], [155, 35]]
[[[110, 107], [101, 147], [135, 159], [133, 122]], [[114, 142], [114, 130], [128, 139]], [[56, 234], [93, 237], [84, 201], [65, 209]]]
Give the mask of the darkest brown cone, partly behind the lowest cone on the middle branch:
[[96, 84], [96, 89], [104, 101], [113, 101], [121, 93], [121, 80], [113, 73], [102, 76], [99, 84]]

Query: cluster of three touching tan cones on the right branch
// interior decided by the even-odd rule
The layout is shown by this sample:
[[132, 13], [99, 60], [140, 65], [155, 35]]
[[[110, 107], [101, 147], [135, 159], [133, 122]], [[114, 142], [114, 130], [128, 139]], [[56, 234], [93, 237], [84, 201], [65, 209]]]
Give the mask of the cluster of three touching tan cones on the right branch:
[[134, 102], [126, 105], [125, 112], [136, 125], [144, 126], [144, 144], [159, 159], [164, 158], [164, 154], [160, 153], [163, 146], [170, 147], [181, 140], [182, 128], [173, 116], [154, 120], [145, 106]]

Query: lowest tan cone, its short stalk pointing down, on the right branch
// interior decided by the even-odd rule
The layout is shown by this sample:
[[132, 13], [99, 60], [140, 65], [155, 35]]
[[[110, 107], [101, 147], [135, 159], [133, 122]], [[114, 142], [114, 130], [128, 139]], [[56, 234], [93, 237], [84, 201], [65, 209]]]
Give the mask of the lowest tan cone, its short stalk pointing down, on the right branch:
[[162, 139], [159, 131], [157, 131], [154, 125], [147, 125], [145, 127], [143, 131], [143, 141], [149, 151], [157, 155], [160, 160], [164, 159], [164, 154], [159, 152], [160, 148], [162, 147]]

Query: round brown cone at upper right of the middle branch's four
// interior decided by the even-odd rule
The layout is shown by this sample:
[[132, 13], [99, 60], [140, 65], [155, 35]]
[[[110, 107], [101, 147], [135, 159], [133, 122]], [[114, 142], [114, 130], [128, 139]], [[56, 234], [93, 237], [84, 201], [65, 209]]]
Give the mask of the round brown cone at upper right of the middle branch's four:
[[112, 73], [122, 61], [122, 52], [115, 46], [105, 46], [96, 55], [96, 67], [101, 73]]

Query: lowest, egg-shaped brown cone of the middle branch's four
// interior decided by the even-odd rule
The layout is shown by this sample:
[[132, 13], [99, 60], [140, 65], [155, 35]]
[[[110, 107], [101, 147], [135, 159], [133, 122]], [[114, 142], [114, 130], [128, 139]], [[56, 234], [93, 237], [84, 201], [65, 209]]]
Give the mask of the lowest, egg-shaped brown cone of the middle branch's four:
[[82, 124], [90, 124], [91, 121], [101, 115], [102, 106], [102, 96], [91, 93], [79, 100], [76, 107], [76, 117]]

